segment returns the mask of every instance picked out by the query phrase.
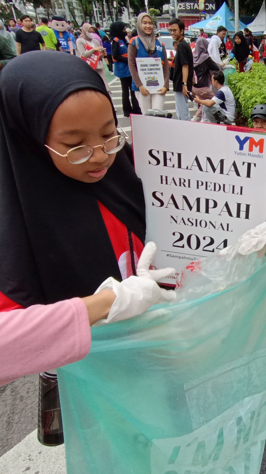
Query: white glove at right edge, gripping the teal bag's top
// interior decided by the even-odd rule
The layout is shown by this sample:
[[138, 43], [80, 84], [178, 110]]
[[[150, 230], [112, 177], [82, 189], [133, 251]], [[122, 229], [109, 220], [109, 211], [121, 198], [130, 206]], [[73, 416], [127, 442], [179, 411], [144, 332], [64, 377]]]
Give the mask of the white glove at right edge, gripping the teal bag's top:
[[248, 230], [239, 237], [238, 241], [241, 244], [238, 249], [240, 255], [257, 252], [258, 257], [262, 258], [266, 250], [266, 222], [255, 227], [255, 229]]

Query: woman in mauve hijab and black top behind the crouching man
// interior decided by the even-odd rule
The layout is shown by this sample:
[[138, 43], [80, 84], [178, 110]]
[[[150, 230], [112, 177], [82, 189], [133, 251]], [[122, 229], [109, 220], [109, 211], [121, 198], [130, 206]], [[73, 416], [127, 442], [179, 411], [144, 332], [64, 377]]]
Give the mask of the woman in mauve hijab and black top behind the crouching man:
[[[208, 40], [199, 37], [195, 45], [194, 52], [194, 71], [196, 75], [196, 83], [192, 86], [192, 93], [199, 99], [212, 99], [214, 94], [210, 90], [210, 84], [212, 81], [211, 71], [219, 71], [219, 67], [208, 53]], [[206, 121], [202, 118], [202, 105], [195, 113], [192, 118], [193, 122]]]

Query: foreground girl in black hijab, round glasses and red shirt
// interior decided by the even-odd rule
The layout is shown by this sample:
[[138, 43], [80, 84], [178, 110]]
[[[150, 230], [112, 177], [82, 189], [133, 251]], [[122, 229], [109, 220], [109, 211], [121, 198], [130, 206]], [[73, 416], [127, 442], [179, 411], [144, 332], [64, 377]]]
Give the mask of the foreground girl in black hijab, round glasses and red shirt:
[[[98, 74], [51, 51], [14, 61], [0, 76], [0, 292], [27, 307], [134, 273], [145, 204], [131, 147], [116, 156], [100, 147], [117, 119]], [[71, 164], [90, 150], [69, 150], [88, 144], [91, 158]]]

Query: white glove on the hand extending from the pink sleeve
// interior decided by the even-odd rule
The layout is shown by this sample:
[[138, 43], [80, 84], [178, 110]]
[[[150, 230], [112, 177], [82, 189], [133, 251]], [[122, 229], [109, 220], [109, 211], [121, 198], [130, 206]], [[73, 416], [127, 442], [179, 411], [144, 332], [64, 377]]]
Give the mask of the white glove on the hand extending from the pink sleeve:
[[153, 304], [176, 300], [177, 292], [173, 290], [163, 290], [156, 283], [160, 281], [161, 278], [175, 273], [175, 269], [168, 267], [160, 270], [150, 270], [155, 252], [155, 243], [148, 242], [142, 250], [137, 265], [138, 276], [130, 276], [121, 283], [109, 277], [99, 286], [95, 294], [108, 289], [113, 290], [116, 298], [107, 319], [101, 319], [101, 321], [94, 326], [133, 318], [138, 314], [144, 313], [144, 311], [148, 310]]

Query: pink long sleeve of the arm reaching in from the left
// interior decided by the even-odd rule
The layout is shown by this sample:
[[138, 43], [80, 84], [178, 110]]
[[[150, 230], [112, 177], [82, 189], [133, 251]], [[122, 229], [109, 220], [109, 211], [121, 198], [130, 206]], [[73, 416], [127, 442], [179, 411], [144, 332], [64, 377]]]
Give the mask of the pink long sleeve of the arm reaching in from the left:
[[0, 385], [87, 356], [91, 335], [80, 298], [0, 313]]

